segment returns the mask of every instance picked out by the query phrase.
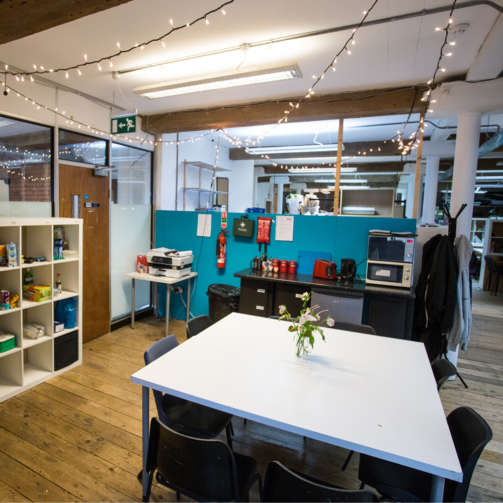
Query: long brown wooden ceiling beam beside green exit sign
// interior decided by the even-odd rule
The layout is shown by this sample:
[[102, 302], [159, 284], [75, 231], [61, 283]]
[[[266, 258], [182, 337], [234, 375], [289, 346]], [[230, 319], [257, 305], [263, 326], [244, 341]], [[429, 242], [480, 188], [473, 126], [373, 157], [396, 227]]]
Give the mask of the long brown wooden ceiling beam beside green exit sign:
[[[409, 113], [411, 107], [413, 112], [421, 112], [425, 108], [421, 97], [422, 93], [412, 87], [315, 95], [304, 100], [288, 120], [306, 122], [396, 115]], [[275, 124], [285, 115], [285, 104], [297, 100], [299, 97], [290, 97], [267, 103], [148, 115], [143, 116], [141, 128], [145, 132], [163, 134]]]

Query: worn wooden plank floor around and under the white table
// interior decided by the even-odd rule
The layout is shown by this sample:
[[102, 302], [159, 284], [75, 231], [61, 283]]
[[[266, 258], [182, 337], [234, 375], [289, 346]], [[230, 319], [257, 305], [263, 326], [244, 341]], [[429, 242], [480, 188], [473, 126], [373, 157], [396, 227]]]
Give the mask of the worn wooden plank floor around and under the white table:
[[[468, 351], [459, 379], [441, 391], [446, 413], [474, 407], [493, 440], [482, 453], [468, 493], [470, 501], [503, 501], [503, 295], [474, 292]], [[0, 501], [141, 501], [141, 388], [130, 375], [143, 352], [164, 334], [155, 318], [86, 343], [83, 364], [0, 403]], [[170, 323], [179, 341], [185, 324]], [[410, 378], [413, 378], [412, 376]], [[151, 399], [151, 414], [155, 406]], [[390, 411], [392, 413], [392, 411]], [[348, 451], [235, 417], [234, 450], [254, 456], [259, 471], [278, 459], [287, 466], [347, 488], [358, 488], [358, 455], [345, 472]], [[187, 501], [182, 496], [183, 501]], [[258, 501], [257, 484], [250, 500]], [[151, 501], [176, 501], [152, 488]]]

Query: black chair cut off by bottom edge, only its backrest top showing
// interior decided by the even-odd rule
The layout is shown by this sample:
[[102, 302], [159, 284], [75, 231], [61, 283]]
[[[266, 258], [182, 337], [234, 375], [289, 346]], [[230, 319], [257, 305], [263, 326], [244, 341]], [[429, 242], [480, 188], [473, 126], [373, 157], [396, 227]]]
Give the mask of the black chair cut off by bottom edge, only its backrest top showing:
[[289, 470], [279, 461], [269, 463], [262, 501], [380, 501], [367, 490], [348, 490]]

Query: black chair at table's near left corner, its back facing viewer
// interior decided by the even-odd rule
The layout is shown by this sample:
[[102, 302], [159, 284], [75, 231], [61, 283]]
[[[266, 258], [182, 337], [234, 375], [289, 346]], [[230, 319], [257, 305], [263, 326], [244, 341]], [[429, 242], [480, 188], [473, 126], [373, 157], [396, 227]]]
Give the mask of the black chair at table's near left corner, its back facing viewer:
[[158, 417], [150, 422], [145, 501], [152, 479], [198, 501], [247, 501], [256, 480], [262, 498], [262, 477], [257, 461], [233, 453], [221, 440], [187, 437], [164, 426]]

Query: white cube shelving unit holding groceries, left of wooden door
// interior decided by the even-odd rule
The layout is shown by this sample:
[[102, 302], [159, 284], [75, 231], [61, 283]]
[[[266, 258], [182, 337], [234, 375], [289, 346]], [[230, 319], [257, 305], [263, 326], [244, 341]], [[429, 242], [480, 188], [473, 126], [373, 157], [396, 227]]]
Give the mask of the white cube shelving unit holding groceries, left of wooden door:
[[[53, 260], [54, 228], [64, 227], [69, 249], [75, 258]], [[0, 330], [15, 336], [16, 347], [0, 353], [0, 402], [82, 363], [82, 220], [73, 218], [0, 218], [0, 243], [16, 243], [17, 267], [0, 267], [0, 290], [19, 295], [17, 307], [0, 311]], [[44, 257], [45, 262], [22, 264], [25, 257]], [[51, 288], [59, 273], [63, 292], [44, 302], [23, 299], [23, 276], [27, 268], [35, 285]], [[52, 295], [51, 295], [52, 297]], [[76, 326], [57, 333], [54, 330], [54, 304], [76, 297]], [[45, 334], [38, 339], [23, 337], [23, 323], [44, 325]], [[54, 371], [54, 347], [57, 338], [77, 332], [78, 359]]]

